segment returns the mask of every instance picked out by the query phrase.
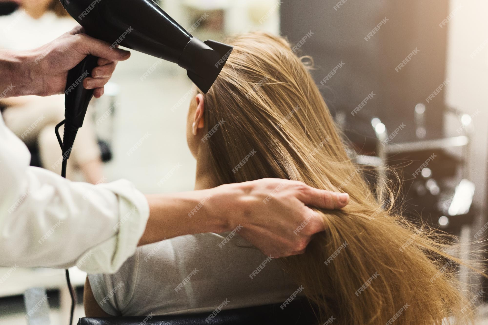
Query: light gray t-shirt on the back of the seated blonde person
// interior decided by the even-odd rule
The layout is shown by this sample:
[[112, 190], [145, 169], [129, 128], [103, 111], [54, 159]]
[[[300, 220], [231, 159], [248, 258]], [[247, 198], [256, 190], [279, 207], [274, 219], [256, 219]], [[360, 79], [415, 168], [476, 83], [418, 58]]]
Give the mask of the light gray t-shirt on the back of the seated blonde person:
[[285, 302], [298, 285], [278, 261], [232, 235], [186, 235], [139, 247], [115, 274], [88, 276], [93, 295], [113, 316], [210, 313], [219, 306]]

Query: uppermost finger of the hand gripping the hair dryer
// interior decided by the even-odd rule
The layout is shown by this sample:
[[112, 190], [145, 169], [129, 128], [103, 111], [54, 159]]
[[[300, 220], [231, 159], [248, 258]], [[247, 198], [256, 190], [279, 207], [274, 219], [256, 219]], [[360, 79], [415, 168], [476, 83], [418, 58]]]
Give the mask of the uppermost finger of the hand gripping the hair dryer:
[[97, 40], [86, 34], [76, 36], [76, 48], [81, 54], [91, 54], [109, 61], [124, 61], [130, 57], [129, 51], [111, 46], [108, 42]]

